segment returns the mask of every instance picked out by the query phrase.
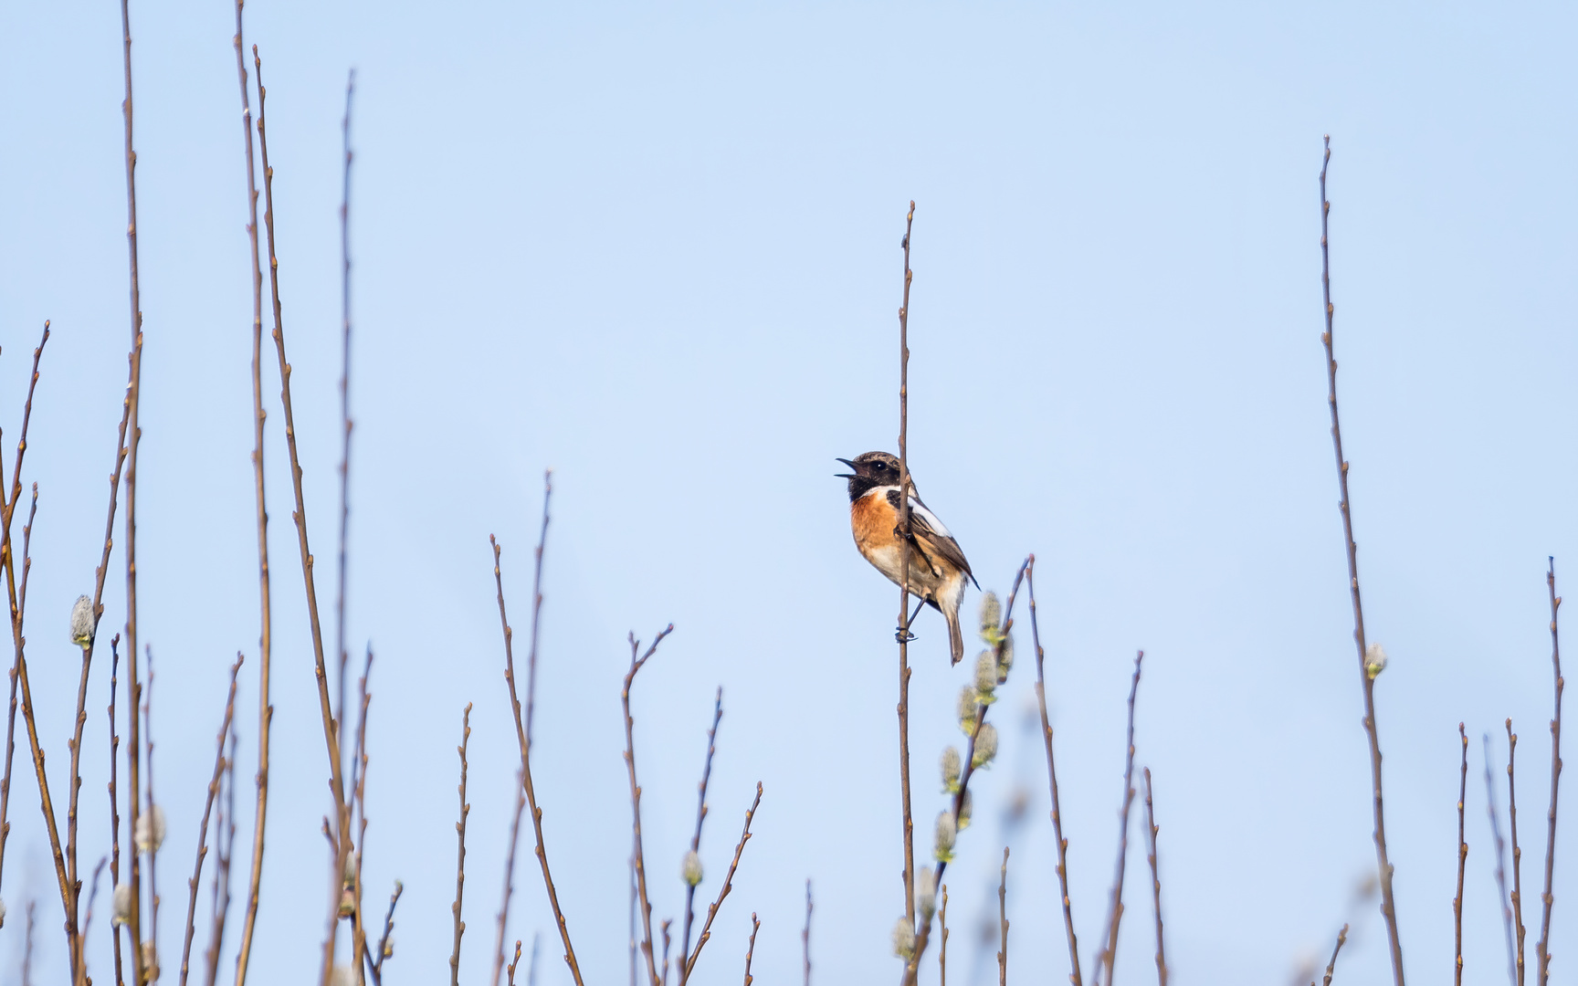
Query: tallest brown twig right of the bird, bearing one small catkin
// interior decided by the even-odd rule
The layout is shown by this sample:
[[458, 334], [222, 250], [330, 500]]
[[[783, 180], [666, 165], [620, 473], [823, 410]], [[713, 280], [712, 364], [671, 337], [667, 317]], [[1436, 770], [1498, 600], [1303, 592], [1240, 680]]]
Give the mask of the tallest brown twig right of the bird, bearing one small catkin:
[[1354, 647], [1359, 652], [1359, 683], [1365, 694], [1365, 734], [1370, 738], [1370, 781], [1374, 790], [1374, 841], [1376, 868], [1381, 877], [1381, 915], [1385, 918], [1387, 943], [1392, 950], [1392, 978], [1403, 986], [1403, 942], [1397, 932], [1397, 904], [1392, 898], [1392, 863], [1385, 850], [1385, 811], [1381, 801], [1381, 738], [1376, 730], [1374, 678], [1365, 659], [1365, 611], [1359, 598], [1359, 546], [1354, 543], [1354, 516], [1348, 497], [1348, 459], [1343, 458], [1343, 429], [1337, 415], [1337, 357], [1332, 352], [1332, 263], [1327, 246], [1327, 219], [1332, 204], [1326, 199], [1326, 166], [1332, 159], [1332, 139], [1326, 139], [1326, 156], [1321, 159], [1321, 292], [1326, 300], [1326, 379], [1327, 404], [1332, 409], [1332, 450], [1337, 454], [1337, 484], [1341, 492], [1338, 508], [1343, 513], [1343, 540], [1348, 546], [1348, 588], [1354, 603]]

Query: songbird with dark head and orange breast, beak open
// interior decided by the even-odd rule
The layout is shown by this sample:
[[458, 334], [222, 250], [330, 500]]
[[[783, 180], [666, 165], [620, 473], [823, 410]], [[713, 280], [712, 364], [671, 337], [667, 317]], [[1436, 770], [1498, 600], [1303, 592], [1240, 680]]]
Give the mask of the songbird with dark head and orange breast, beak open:
[[[895, 585], [903, 585], [898, 459], [885, 451], [868, 451], [839, 462], [855, 470], [838, 473], [838, 478], [849, 480], [849, 527], [855, 535], [855, 547]], [[970, 563], [964, 560], [959, 543], [937, 514], [920, 502], [914, 476], [909, 478], [909, 592], [948, 620], [948, 645], [953, 663], [958, 664], [964, 656], [959, 603], [964, 599], [964, 584], [974, 582], [975, 576], [970, 574]]]

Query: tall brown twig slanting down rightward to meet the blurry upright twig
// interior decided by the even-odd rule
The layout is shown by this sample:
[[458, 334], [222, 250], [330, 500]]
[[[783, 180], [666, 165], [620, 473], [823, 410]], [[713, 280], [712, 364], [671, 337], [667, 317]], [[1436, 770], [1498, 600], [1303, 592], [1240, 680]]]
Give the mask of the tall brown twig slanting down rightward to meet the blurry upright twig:
[[[275, 308], [275, 352], [279, 357], [279, 402], [286, 412], [286, 450], [290, 453], [290, 486], [295, 492], [295, 527], [297, 549], [301, 555], [301, 582], [306, 588], [306, 614], [312, 629], [312, 663], [317, 675], [317, 705], [323, 719], [323, 743], [328, 748], [328, 786], [335, 797], [335, 814], [339, 817], [339, 849], [335, 879], [344, 880], [346, 857], [350, 846], [350, 808], [346, 800], [346, 782], [339, 764], [339, 724], [328, 704], [328, 672], [323, 666], [323, 626], [317, 614], [317, 585], [312, 577], [312, 551], [308, 546], [306, 533], [306, 497], [301, 491], [301, 456], [295, 440], [295, 412], [290, 404], [290, 363], [286, 360], [284, 320], [279, 306], [279, 257], [275, 252], [275, 170], [268, 166], [268, 128], [265, 123], [265, 107], [268, 103], [268, 87], [264, 85], [264, 62], [252, 46], [252, 69], [257, 73], [257, 148], [264, 162], [264, 230], [268, 233], [268, 297]], [[328, 942], [323, 948], [323, 986], [335, 972], [335, 937], [338, 921], [330, 924]]]

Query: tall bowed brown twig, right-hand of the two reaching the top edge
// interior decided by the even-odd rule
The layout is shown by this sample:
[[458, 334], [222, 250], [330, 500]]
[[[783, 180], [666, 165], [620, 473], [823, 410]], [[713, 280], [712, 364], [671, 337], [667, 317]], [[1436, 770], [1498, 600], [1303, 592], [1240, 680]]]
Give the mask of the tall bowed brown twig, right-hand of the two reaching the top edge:
[[[245, 986], [257, 928], [257, 902], [264, 880], [264, 835], [268, 822], [268, 735], [273, 721], [270, 670], [273, 655], [273, 606], [268, 585], [268, 503], [264, 487], [264, 271], [257, 243], [257, 178], [252, 155], [252, 107], [248, 95], [241, 35], [241, 3], [235, 0], [235, 73], [241, 84], [241, 134], [246, 139], [246, 235], [252, 246], [252, 492], [257, 500], [257, 808], [252, 819], [252, 865], [241, 920], [241, 947], [235, 954], [235, 986]], [[229, 888], [226, 890], [229, 894]]]

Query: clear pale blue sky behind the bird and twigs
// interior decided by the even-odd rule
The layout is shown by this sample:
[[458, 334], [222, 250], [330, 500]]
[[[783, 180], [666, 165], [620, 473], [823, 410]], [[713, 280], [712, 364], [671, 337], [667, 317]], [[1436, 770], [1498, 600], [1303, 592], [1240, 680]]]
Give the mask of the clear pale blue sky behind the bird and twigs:
[[[251, 298], [234, 8], [139, 3], [133, 32], [147, 319], [139, 622], [159, 670], [169, 981], [238, 648], [251, 816]], [[909, 199], [911, 462], [985, 587], [1005, 590], [1027, 551], [1040, 558], [1087, 964], [1117, 838], [1124, 697], [1144, 647], [1136, 741], [1155, 771], [1174, 981], [1288, 981], [1305, 956], [1324, 964], [1349, 920], [1340, 981], [1389, 981], [1379, 917], [1352, 902], [1374, 857], [1319, 344], [1327, 133], [1360, 574], [1371, 639], [1392, 655], [1378, 702], [1404, 954], [1415, 981], [1450, 975], [1464, 721], [1466, 980], [1505, 981], [1479, 735], [1513, 716], [1523, 737], [1534, 902], [1550, 756], [1545, 557], [1578, 584], [1573, 32], [1557, 5], [251, 5], [325, 601], [339, 118], [346, 69], [358, 73], [350, 639], [379, 653], [369, 904], [406, 882], [390, 981], [447, 967], [466, 702], [462, 972], [489, 970], [516, 746], [488, 535], [505, 544], [519, 631], [544, 467], [557, 492], [537, 787], [589, 981], [625, 977], [623, 639], [671, 620], [634, 696], [655, 917], [683, 906], [677, 868], [721, 683], [709, 898], [757, 779], [765, 795], [697, 983], [739, 978], [751, 910], [756, 975], [797, 977], [806, 877], [817, 980], [896, 978], [895, 593], [855, 555], [832, 473], [835, 456], [895, 445]], [[66, 614], [92, 587], [125, 383], [118, 39], [114, 5], [0, 8], [8, 446], [25, 357], [46, 317], [55, 328], [25, 478], [41, 487], [28, 636], [57, 790], [77, 674]], [[254, 981], [287, 983], [316, 962], [328, 798], [278, 380], [265, 380], [276, 715]], [[107, 629], [125, 618], [118, 576], [106, 601]], [[994, 710], [1004, 751], [977, 781], [978, 822], [948, 874], [958, 981], [993, 975], [975, 928], [996, 907], [1005, 839], [1011, 972], [1065, 972], [1045, 765], [1035, 730], [1016, 726], [1034, 680], [1027, 629]], [[918, 633], [925, 831], [967, 669], [947, 667], [934, 615]], [[84, 869], [107, 831], [103, 669], [88, 702]], [[25, 748], [17, 770], [0, 969], [14, 969], [21, 902], [36, 893], [38, 977], [58, 980]], [[1019, 787], [1029, 812], [1008, 830], [999, 809]], [[1557, 970], [1578, 954], [1575, 812], [1557, 846]], [[1136, 850], [1127, 978], [1150, 975], [1144, 869]], [[568, 983], [525, 842], [516, 882], [511, 940], [544, 932], [540, 981]], [[95, 920], [101, 981], [106, 928]]]

